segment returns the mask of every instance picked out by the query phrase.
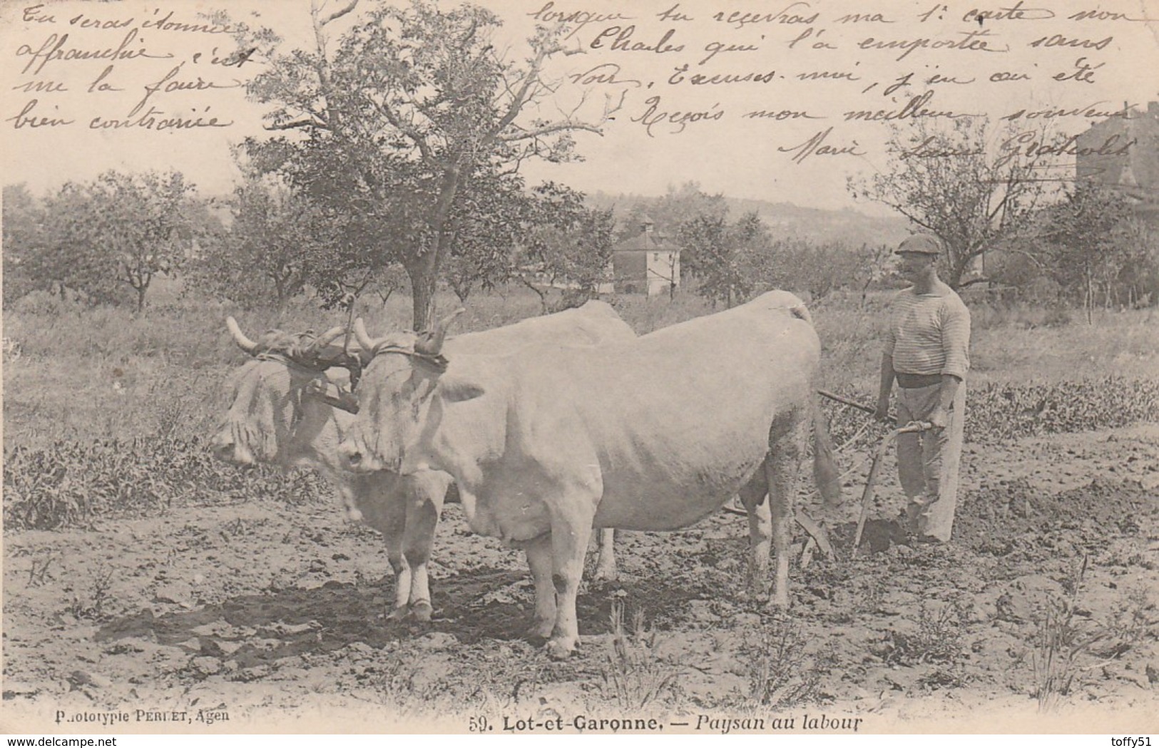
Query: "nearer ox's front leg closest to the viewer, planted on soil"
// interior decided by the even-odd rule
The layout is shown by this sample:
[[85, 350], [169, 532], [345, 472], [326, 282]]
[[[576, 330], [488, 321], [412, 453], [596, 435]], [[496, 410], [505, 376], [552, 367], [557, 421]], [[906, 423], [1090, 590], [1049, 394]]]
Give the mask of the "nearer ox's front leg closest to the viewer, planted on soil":
[[[555, 585], [555, 629], [547, 653], [563, 659], [580, 643], [576, 596], [583, 578], [583, 559], [591, 538], [596, 500], [580, 493], [549, 504], [552, 514], [552, 582]], [[588, 508], [590, 507], [590, 508]]]

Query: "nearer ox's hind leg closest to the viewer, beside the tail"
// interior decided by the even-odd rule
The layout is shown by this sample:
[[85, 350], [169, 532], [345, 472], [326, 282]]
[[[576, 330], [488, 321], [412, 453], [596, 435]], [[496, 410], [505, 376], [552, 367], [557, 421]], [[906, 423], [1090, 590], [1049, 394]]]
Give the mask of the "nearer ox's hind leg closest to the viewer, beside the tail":
[[[793, 530], [793, 504], [796, 498], [797, 472], [804, 455], [808, 438], [808, 421], [795, 419], [783, 435], [770, 439], [768, 456], [765, 457], [765, 479], [768, 483], [768, 505], [773, 525], [773, 552], [775, 573], [770, 607], [787, 608], [789, 604], [789, 542]], [[775, 428], [775, 426], [774, 426]]]

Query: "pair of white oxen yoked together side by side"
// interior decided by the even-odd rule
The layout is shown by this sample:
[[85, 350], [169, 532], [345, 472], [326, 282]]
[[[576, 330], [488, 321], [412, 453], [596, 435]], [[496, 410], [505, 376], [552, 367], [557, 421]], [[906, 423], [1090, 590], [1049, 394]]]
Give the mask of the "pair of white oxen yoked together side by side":
[[[749, 593], [788, 604], [793, 498], [810, 430], [828, 504], [838, 479], [815, 399], [821, 344], [800, 299], [749, 303], [636, 337], [591, 301], [445, 339], [270, 331], [236, 374], [216, 454], [235, 463], [308, 464], [353, 519], [385, 535], [395, 574], [391, 617], [431, 616], [428, 562], [452, 482], [475, 533], [526, 551], [532, 635], [567, 657], [593, 528], [597, 574], [614, 574], [612, 528], [687, 527], [739, 494], [749, 514]], [[357, 406], [337, 391], [347, 366]], [[337, 394], [336, 394], [337, 391]], [[352, 415], [348, 411], [357, 411]], [[770, 500], [765, 500], [766, 494]]]

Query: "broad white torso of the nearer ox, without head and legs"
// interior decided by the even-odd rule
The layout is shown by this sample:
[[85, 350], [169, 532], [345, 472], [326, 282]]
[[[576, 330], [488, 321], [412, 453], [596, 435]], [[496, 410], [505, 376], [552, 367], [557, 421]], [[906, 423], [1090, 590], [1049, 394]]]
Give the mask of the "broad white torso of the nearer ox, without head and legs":
[[[600, 496], [597, 527], [685, 527], [757, 472], [779, 430], [808, 418], [821, 345], [795, 308], [796, 296], [772, 292], [619, 345], [452, 357], [447, 379], [486, 394], [444, 402], [442, 435], [420, 450], [435, 447], [424, 457], [453, 474], [455, 457], [479, 461], [478, 479], [468, 477], [479, 531], [526, 540], [547, 530], [533, 499], [576, 482]], [[484, 420], [505, 424], [503, 445], [439, 454], [459, 452], [438, 445], [453, 447], [455, 432]]]

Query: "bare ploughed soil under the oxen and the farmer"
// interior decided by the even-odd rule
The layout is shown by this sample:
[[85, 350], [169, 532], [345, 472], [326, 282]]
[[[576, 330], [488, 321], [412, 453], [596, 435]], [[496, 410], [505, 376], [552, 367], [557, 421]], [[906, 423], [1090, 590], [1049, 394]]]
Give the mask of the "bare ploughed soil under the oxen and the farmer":
[[381, 537], [336, 500], [7, 533], [0, 728], [1154, 732], [1159, 426], [967, 450], [953, 543], [901, 533], [887, 464], [855, 555], [868, 465], [844, 454], [837, 559], [802, 567], [796, 529], [787, 614], [743, 595], [743, 516], [622, 533], [566, 661], [524, 636], [522, 555], [457, 505], [425, 624], [384, 618]]

